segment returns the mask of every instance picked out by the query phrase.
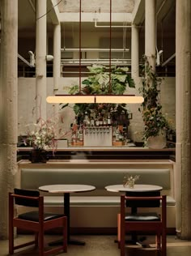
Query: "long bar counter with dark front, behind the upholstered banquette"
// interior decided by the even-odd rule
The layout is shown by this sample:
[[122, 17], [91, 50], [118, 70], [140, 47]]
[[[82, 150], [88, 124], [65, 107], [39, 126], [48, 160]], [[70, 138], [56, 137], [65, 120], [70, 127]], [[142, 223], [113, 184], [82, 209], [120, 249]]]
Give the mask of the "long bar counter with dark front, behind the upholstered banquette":
[[[32, 147], [18, 147], [18, 160], [29, 159]], [[49, 160], [175, 160], [175, 147], [151, 149], [148, 147], [58, 147], [48, 150]]]

